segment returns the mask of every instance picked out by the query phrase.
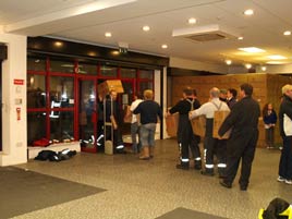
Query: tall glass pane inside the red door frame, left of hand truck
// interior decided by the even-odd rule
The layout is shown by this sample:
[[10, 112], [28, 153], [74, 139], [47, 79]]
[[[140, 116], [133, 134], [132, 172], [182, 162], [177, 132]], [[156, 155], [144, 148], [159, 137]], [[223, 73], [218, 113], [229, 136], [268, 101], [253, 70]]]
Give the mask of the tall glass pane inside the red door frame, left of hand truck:
[[81, 146], [94, 148], [96, 95], [93, 81], [80, 82], [80, 139]]

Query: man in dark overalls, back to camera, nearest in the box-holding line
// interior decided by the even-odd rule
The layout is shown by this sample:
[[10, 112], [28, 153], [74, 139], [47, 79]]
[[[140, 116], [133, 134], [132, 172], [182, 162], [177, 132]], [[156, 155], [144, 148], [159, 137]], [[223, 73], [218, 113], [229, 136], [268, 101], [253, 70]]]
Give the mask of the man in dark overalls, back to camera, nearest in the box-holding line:
[[232, 129], [231, 136], [227, 141], [226, 178], [220, 181], [220, 184], [228, 188], [232, 186], [241, 160], [240, 188], [246, 191], [248, 186], [258, 138], [257, 123], [260, 115], [259, 105], [252, 98], [252, 85], [241, 85], [242, 99], [233, 106], [218, 132], [219, 136], [223, 136], [227, 131]]

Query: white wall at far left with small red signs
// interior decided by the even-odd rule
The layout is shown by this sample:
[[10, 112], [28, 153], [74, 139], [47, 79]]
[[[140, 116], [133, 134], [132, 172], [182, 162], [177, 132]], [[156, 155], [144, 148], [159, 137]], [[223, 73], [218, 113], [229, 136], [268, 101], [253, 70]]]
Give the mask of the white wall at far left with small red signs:
[[[0, 42], [8, 46], [8, 59], [2, 62], [2, 153], [0, 166], [27, 161], [26, 145], [26, 36], [3, 34]], [[15, 85], [14, 80], [23, 80]], [[22, 100], [17, 105], [16, 100]], [[17, 121], [16, 108], [21, 108]]]

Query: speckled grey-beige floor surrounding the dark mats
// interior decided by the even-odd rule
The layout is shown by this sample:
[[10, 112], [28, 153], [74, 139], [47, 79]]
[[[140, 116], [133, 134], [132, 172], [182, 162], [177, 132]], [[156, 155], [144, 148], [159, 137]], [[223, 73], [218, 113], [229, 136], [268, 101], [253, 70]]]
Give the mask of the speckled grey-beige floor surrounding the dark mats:
[[238, 178], [228, 190], [219, 185], [218, 177], [175, 169], [174, 139], [157, 141], [156, 145], [150, 161], [132, 154], [82, 153], [66, 161], [32, 160], [17, 166], [107, 191], [16, 218], [155, 219], [183, 207], [230, 219], [256, 219], [258, 209], [273, 197], [292, 202], [292, 185], [276, 181], [279, 150], [257, 149], [250, 187], [242, 192]]

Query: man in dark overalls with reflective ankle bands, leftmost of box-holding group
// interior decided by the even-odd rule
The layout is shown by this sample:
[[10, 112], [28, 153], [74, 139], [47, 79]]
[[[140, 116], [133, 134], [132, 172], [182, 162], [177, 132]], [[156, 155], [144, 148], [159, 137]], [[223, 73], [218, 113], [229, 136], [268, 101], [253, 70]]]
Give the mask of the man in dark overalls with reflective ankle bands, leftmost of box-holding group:
[[181, 143], [181, 160], [177, 166], [178, 169], [188, 170], [190, 168], [188, 146], [191, 147], [191, 150], [194, 151], [194, 168], [197, 170], [202, 168], [200, 151], [198, 147], [199, 138], [194, 135], [191, 121], [188, 120], [188, 112], [197, 108], [199, 108], [199, 102], [194, 98], [193, 89], [186, 88], [183, 90], [183, 100], [180, 100], [168, 112], [170, 114], [179, 112], [180, 114], [178, 137]]

